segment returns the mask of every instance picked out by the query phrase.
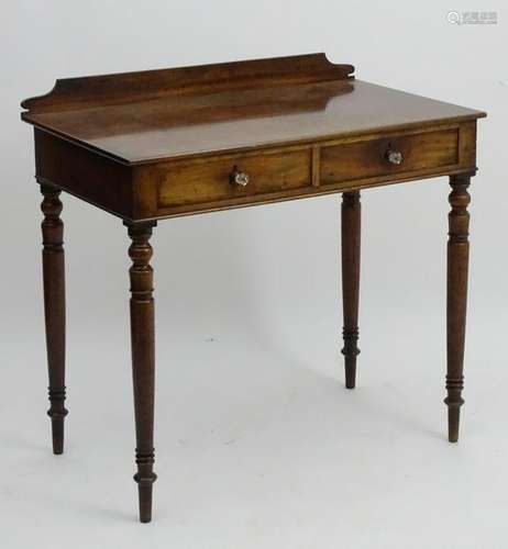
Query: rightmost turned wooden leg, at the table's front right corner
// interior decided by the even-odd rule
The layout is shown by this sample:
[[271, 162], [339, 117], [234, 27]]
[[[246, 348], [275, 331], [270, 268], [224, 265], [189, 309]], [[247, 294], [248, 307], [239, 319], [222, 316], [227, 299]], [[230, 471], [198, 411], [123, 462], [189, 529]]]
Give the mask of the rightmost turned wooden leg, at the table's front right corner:
[[444, 400], [448, 405], [449, 440], [459, 440], [461, 406], [464, 403], [464, 341], [467, 301], [467, 265], [470, 257], [467, 205], [470, 176], [451, 176], [452, 192], [449, 197], [448, 242], [448, 302], [446, 302], [446, 390]]

